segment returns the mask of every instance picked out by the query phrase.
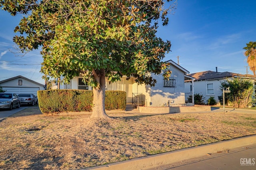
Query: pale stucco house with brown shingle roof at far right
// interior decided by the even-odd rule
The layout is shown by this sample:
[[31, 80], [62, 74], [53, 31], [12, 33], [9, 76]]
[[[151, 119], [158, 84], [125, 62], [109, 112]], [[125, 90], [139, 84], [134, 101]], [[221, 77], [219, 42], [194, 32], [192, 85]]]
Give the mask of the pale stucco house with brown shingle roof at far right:
[[[222, 98], [222, 90], [220, 89], [220, 83], [225, 80], [231, 80], [233, 78], [243, 78], [251, 79], [256, 81], [255, 75], [243, 75], [230, 72], [218, 72], [216, 71], [202, 71], [198, 73], [189, 74], [191, 77], [194, 77], [194, 94], [199, 93], [205, 97], [204, 103], [208, 103], [210, 97], [214, 97], [217, 104], [220, 104], [219, 96]], [[192, 83], [191, 80], [185, 81], [185, 91], [186, 94], [192, 92]]]

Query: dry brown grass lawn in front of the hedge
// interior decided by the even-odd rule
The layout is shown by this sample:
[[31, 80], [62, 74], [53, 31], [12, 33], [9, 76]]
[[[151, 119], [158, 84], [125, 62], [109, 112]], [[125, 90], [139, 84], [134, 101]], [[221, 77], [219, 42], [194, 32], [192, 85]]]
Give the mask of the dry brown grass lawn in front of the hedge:
[[0, 121], [0, 169], [80, 169], [256, 134], [256, 114], [42, 115]]

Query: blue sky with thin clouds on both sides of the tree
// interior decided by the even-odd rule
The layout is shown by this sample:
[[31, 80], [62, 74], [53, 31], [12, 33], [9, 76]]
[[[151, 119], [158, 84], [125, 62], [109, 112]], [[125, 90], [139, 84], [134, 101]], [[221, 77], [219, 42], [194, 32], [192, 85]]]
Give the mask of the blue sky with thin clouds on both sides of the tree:
[[[178, 0], [169, 24], [160, 27], [157, 36], [172, 43], [165, 60], [179, 63], [190, 73], [212, 70], [246, 74], [243, 47], [256, 41], [256, 0]], [[44, 84], [41, 78], [40, 51], [23, 57], [12, 42], [20, 16], [0, 10], [0, 81], [22, 75]], [[248, 67], [248, 73], [252, 74]]]

